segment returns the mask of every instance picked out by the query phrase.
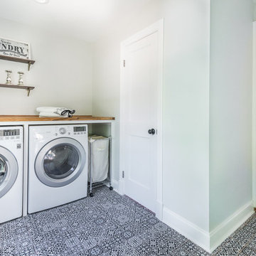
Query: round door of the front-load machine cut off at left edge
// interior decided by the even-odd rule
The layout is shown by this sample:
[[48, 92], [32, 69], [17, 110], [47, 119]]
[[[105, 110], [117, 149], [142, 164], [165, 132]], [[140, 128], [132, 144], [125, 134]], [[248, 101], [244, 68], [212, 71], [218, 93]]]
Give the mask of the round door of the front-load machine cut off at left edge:
[[0, 146], [0, 198], [14, 185], [18, 176], [18, 163], [8, 149]]

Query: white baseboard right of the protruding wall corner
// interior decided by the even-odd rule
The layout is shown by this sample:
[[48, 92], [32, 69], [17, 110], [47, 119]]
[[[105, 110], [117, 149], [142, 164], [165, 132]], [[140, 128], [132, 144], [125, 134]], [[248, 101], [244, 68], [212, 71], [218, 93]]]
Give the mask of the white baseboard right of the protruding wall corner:
[[213, 231], [210, 232], [210, 252], [213, 252], [226, 238], [228, 238], [236, 229], [245, 223], [254, 213], [252, 202], [239, 208], [233, 215], [220, 223]]

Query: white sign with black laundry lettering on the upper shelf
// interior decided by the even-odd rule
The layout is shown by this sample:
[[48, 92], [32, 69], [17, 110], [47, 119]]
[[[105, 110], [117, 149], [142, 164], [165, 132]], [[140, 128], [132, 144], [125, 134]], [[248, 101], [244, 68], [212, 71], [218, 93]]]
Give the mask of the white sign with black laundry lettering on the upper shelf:
[[16, 58], [31, 58], [30, 44], [0, 38], [0, 55]]

